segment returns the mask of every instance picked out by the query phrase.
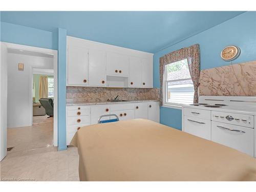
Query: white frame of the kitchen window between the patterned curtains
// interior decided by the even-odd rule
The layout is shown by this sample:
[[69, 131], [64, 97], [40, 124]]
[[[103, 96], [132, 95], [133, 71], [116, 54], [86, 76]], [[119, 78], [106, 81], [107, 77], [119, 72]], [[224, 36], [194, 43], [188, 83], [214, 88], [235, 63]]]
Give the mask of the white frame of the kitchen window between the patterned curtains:
[[[184, 58], [184, 59], [187, 59], [187, 58]], [[182, 59], [183, 60], [183, 59]], [[177, 62], [177, 61], [175, 61]], [[189, 62], [189, 60], [187, 59], [187, 63]], [[170, 64], [170, 63], [169, 63]], [[168, 65], [168, 64], [167, 64]], [[165, 66], [164, 66], [165, 67]], [[162, 92], [163, 92], [163, 104], [162, 106], [166, 107], [166, 108], [173, 108], [173, 109], [179, 109], [181, 110], [182, 109], [182, 106], [184, 104], [182, 103], [173, 103], [173, 102], [167, 102], [167, 97], [168, 97], [168, 91], [167, 91], [167, 84], [168, 82], [175, 82], [175, 81], [180, 81], [181, 79], [178, 79], [178, 80], [165, 80], [167, 77], [167, 70], [164, 70], [164, 74], [163, 74], [163, 87], [162, 87]], [[186, 78], [186, 79], [182, 79], [182, 80], [190, 80], [191, 79], [191, 76], [190, 78]]]

